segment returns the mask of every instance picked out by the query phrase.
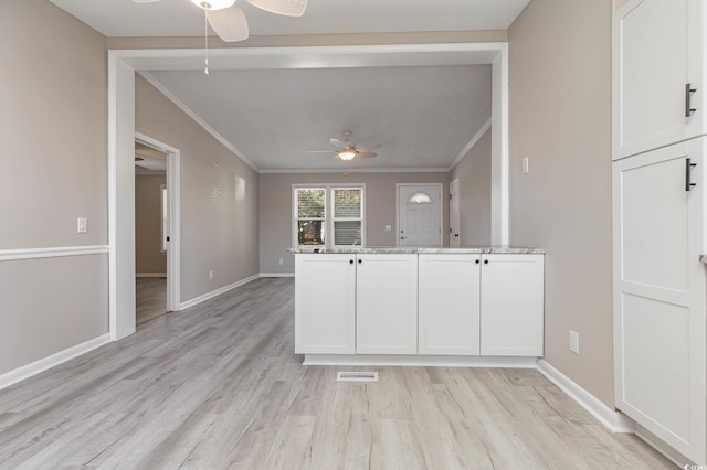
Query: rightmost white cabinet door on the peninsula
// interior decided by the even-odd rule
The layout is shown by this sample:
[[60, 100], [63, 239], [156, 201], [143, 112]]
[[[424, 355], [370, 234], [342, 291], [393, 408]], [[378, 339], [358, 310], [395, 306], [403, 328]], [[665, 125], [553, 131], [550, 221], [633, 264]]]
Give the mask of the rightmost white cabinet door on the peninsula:
[[544, 255], [482, 256], [482, 355], [542, 355]]

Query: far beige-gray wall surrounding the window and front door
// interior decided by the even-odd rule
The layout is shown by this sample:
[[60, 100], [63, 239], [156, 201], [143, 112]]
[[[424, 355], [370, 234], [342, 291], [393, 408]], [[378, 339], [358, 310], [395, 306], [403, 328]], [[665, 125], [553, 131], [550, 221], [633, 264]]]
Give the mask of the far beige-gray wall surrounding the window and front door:
[[[305, 183], [347, 183], [366, 184], [366, 244], [369, 246], [394, 246], [395, 229], [395, 184], [397, 183], [440, 183], [443, 189], [444, 243], [447, 242], [445, 227], [449, 227], [449, 173], [304, 173], [304, 174], [261, 174], [261, 273], [294, 273], [294, 256], [287, 253], [292, 248], [292, 185]], [[392, 225], [391, 232], [384, 226]], [[283, 266], [279, 266], [283, 258]]]

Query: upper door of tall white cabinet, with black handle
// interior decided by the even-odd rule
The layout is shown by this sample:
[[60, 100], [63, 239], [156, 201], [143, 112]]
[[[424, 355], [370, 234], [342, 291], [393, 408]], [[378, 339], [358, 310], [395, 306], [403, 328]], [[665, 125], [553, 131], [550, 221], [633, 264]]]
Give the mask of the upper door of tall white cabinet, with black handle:
[[[705, 133], [704, 1], [632, 0], [614, 17], [614, 159]], [[696, 88], [686, 117], [685, 85]]]

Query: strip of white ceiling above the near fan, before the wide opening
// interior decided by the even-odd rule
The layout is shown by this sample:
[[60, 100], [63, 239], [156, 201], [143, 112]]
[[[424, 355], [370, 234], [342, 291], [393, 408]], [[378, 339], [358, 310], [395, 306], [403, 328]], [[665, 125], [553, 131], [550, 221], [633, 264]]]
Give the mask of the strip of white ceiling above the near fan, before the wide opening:
[[[202, 11], [189, 0], [51, 0], [106, 36], [198, 36]], [[236, 0], [251, 35], [505, 30], [529, 0], [309, 0], [300, 18]]]

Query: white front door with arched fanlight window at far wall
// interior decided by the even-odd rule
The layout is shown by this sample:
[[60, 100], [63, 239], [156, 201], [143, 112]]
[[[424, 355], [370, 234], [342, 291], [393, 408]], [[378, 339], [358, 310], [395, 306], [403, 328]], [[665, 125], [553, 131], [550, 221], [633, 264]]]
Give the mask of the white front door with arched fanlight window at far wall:
[[442, 185], [398, 185], [398, 245], [442, 245]]

